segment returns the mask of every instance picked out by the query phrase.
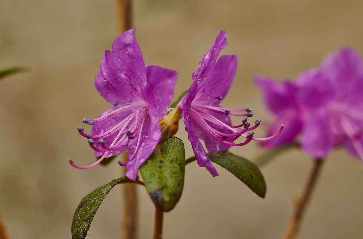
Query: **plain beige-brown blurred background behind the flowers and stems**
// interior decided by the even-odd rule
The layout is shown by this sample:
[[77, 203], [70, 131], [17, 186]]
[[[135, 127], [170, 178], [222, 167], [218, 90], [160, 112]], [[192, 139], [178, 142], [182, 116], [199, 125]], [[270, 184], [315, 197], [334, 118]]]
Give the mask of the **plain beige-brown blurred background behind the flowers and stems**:
[[[294, 78], [343, 46], [363, 54], [361, 0], [135, 0], [133, 15], [146, 65], [179, 72], [174, 99], [191, 84], [219, 31], [227, 31], [223, 54], [236, 54], [238, 69], [223, 106], [251, 107], [262, 122], [270, 116], [253, 85], [255, 74]], [[78, 170], [67, 161], [94, 161], [76, 127], [109, 108], [93, 80], [117, 33], [112, 0], [0, 1], [0, 68], [31, 68], [0, 82], [0, 215], [12, 239], [71, 238], [82, 197], [120, 177], [117, 162]], [[263, 136], [263, 128], [255, 135]], [[183, 126], [177, 136], [190, 157]], [[260, 149], [251, 142], [232, 152], [253, 159]], [[180, 202], [164, 217], [164, 238], [282, 238], [310, 159], [295, 150], [264, 166], [265, 199], [216, 167], [220, 176], [213, 178], [196, 163], [187, 166]], [[362, 238], [362, 182], [363, 163], [334, 151], [298, 238]], [[116, 186], [103, 201], [88, 239], [121, 237], [121, 189]], [[151, 238], [153, 204], [146, 190], [138, 190], [139, 236]]]

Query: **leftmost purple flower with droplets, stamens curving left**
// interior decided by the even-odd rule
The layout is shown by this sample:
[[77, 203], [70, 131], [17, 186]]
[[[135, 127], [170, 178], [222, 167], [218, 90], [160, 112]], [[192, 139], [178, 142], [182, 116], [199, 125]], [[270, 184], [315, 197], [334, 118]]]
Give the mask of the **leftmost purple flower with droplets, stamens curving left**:
[[93, 125], [92, 134], [79, 133], [88, 138], [89, 145], [104, 158], [129, 149], [126, 176], [135, 180], [139, 167], [158, 144], [162, 129], [159, 120], [166, 114], [174, 93], [178, 73], [159, 66], [145, 66], [135, 29], [124, 32], [113, 42], [112, 52], [106, 50], [101, 70], [95, 77], [95, 87], [107, 102], [114, 105], [95, 119], [83, 119]]

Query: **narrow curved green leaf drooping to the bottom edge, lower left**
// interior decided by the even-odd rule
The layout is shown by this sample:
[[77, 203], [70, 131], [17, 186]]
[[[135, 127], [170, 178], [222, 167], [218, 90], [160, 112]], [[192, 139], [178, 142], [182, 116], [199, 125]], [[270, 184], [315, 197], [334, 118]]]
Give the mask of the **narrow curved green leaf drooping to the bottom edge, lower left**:
[[[136, 178], [138, 181], [138, 178]], [[90, 228], [92, 219], [96, 214], [96, 211], [101, 205], [106, 195], [113, 189], [118, 183], [130, 183], [131, 181], [126, 176], [118, 179], [114, 179], [112, 182], [103, 185], [87, 194], [79, 203], [76, 211], [73, 215], [72, 221], [72, 239], [84, 239]]]

